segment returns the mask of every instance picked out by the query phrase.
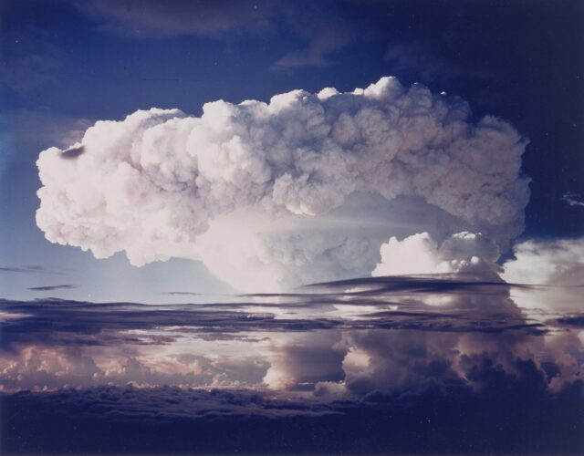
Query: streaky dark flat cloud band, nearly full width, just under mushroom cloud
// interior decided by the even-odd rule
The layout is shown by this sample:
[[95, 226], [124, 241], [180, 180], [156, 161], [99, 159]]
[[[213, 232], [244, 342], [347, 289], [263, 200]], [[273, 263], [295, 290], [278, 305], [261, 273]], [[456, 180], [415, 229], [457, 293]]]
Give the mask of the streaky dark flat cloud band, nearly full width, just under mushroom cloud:
[[[197, 305], [0, 299], [0, 311], [26, 316], [5, 323], [2, 346], [31, 343], [107, 346], [114, 340], [125, 340], [128, 331], [140, 333], [129, 339], [140, 345], [169, 344], [185, 334], [205, 340], [215, 337], [236, 340], [255, 337], [258, 333], [366, 328], [408, 328], [438, 333], [545, 333], [547, 326], [527, 321], [507, 298], [509, 289], [526, 286], [477, 281], [464, 275], [428, 275], [365, 277], [312, 285], [306, 294], [257, 295], [249, 300], [241, 296], [232, 302]], [[35, 288], [36, 291], [50, 289], [57, 286]], [[313, 292], [316, 290], [320, 293]], [[439, 306], [428, 305], [425, 300], [429, 296], [451, 300]], [[494, 315], [497, 317], [493, 318]], [[165, 331], [162, 338], [160, 331]]]

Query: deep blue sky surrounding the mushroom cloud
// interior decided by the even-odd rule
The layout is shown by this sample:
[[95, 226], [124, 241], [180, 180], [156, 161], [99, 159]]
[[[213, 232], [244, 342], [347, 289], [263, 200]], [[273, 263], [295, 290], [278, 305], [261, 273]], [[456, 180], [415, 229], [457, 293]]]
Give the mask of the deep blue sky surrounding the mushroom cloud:
[[[477, 117], [509, 119], [530, 140], [524, 235], [579, 236], [584, 208], [562, 197], [579, 202], [584, 194], [583, 14], [582, 3], [569, 0], [4, 2], [0, 263], [80, 269], [94, 284], [115, 274], [180, 286], [178, 260], [136, 272], [120, 254], [97, 262], [48, 244], [34, 221], [38, 152], [136, 109], [198, 115], [214, 99], [350, 90], [384, 75], [461, 96]], [[190, 267], [195, 288], [224, 290], [203, 266]], [[9, 295], [29, 297], [19, 290], [55, 282], [22, 277], [3, 277]]]

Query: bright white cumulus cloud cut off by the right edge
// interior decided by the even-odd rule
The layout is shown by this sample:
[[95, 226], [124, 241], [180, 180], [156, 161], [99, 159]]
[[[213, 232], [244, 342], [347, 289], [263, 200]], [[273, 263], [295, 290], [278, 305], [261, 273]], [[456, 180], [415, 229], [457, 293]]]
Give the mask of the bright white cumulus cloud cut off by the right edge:
[[544, 310], [581, 310], [584, 285], [584, 238], [528, 240], [513, 248], [504, 264], [507, 282], [543, 285], [516, 289], [519, 306]]

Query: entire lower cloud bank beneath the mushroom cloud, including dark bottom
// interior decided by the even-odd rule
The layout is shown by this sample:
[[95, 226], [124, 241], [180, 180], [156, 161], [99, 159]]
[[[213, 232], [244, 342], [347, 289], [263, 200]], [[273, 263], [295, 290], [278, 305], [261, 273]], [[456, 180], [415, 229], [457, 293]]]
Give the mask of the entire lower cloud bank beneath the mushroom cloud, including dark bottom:
[[535, 325], [508, 299], [525, 286], [454, 277], [261, 304], [286, 316], [0, 300], [0, 450], [580, 453], [582, 316]]

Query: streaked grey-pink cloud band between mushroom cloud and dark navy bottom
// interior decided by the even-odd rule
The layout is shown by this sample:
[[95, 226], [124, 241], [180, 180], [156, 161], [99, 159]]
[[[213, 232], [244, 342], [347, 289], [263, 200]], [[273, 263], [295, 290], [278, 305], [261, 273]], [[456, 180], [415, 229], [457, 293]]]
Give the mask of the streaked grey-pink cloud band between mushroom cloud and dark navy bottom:
[[[462, 388], [470, 381], [465, 372], [484, 359], [513, 373], [515, 358], [532, 358], [532, 349], [555, 341], [549, 347], [557, 362], [546, 375], [553, 388], [564, 388], [584, 359], [574, 355], [581, 351], [577, 337], [555, 337], [558, 329], [578, 327], [579, 316], [532, 320], [508, 298], [510, 288], [523, 285], [504, 285], [436, 275], [355, 279], [321, 284], [323, 294], [309, 287], [305, 297], [242, 295], [202, 305], [0, 300], [0, 311], [13, 316], [0, 322], [0, 356], [10, 367], [0, 383], [267, 385], [334, 399]], [[429, 305], [436, 295], [448, 300]], [[203, 350], [209, 342], [218, 351], [224, 343], [247, 354], [253, 347], [255, 358], [207, 358], [193, 339]]]

